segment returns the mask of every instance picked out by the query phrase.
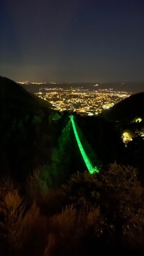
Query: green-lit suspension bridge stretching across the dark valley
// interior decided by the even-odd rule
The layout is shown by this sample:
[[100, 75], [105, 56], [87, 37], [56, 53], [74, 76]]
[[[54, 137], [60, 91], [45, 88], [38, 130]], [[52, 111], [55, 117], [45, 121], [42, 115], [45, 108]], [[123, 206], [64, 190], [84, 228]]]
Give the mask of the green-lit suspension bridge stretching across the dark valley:
[[85, 165], [87, 166], [90, 173], [99, 172], [99, 170], [96, 168], [96, 166], [94, 167], [92, 165], [91, 161], [89, 160], [89, 158], [87, 157], [87, 154], [84, 151], [84, 148], [82, 147], [80, 138], [78, 137], [77, 129], [75, 127], [73, 115], [70, 116], [70, 120], [71, 120], [71, 123], [72, 123], [72, 126], [73, 126], [74, 135], [75, 135], [75, 138], [77, 140], [78, 147], [80, 148], [80, 152], [81, 152], [82, 158], [84, 159]]

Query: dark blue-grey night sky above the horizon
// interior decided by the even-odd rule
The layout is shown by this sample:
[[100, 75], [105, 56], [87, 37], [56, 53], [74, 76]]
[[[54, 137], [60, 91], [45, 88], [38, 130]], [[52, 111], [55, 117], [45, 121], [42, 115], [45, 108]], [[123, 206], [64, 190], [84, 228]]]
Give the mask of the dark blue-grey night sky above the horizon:
[[1, 0], [0, 75], [144, 80], [144, 0]]

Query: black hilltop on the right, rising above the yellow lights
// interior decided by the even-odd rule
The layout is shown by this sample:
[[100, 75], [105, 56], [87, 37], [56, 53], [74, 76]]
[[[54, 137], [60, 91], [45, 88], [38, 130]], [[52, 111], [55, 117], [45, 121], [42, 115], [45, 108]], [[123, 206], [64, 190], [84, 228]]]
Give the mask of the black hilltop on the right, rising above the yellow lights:
[[131, 122], [132, 119], [141, 116], [144, 118], [144, 93], [133, 94], [123, 101], [118, 102], [112, 108], [103, 112], [110, 120]]

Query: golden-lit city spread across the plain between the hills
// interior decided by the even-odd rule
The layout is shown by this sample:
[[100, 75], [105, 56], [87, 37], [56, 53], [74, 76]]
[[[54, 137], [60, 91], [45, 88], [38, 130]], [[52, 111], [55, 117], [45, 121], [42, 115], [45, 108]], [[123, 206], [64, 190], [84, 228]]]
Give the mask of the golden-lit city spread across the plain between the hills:
[[85, 89], [82, 86], [71, 86], [70, 88], [41, 87], [35, 95], [51, 102], [52, 108], [58, 111], [69, 110], [81, 115], [98, 115], [103, 109], [110, 108], [118, 101], [129, 97], [131, 93], [114, 91], [113, 88], [91, 86], [90, 89]]

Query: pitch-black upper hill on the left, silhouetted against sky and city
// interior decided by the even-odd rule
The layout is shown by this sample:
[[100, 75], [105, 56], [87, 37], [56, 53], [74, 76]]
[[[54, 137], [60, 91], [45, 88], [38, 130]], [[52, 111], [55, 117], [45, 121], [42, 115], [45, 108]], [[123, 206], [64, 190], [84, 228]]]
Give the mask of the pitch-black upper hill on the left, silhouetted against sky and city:
[[45, 106], [47, 109], [51, 107], [49, 102], [36, 98], [19, 84], [1, 76], [0, 95], [2, 113], [8, 116], [10, 113], [12, 115], [16, 115], [16, 113], [39, 113], [44, 110]]

